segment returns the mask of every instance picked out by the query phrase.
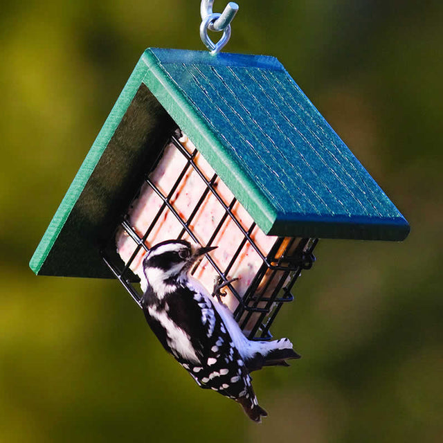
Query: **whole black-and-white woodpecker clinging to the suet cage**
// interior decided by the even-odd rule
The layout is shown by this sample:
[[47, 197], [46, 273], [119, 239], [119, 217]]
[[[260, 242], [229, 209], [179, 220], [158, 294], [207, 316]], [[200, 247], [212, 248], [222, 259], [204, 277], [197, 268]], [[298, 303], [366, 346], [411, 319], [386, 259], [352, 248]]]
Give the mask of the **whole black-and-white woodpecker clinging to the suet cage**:
[[287, 365], [287, 359], [299, 355], [287, 338], [248, 340], [228, 307], [190, 275], [192, 265], [215, 247], [185, 240], [153, 246], [143, 260], [147, 289], [141, 305], [165, 350], [201, 388], [234, 399], [248, 417], [261, 422], [267, 413], [257, 404], [249, 373], [267, 365]]

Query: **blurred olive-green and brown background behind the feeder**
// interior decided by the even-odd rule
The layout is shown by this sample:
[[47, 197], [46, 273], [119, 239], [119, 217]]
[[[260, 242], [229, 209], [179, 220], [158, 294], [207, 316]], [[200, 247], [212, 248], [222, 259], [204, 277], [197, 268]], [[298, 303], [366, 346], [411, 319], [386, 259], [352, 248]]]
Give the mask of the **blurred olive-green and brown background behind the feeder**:
[[145, 47], [204, 49], [199, 1], [3, 1], [1, 442], [442, 441], [443, 3], [239, 6], [226, 51], [278, 57], [410, 236], [320, 242], [273, 328], [303, 358], [255, 374], [269, 418], [248, 422], [163, 352], [117, 282], [28, 269]]

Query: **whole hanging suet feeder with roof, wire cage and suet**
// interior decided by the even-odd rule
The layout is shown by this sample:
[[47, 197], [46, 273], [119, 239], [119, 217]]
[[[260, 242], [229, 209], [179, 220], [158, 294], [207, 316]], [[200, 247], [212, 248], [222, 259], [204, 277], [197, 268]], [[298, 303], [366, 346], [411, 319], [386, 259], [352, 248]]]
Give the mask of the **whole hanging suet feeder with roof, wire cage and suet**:
[[143, 255], [156, 242], [219, 246], [194, 275], [226, 295], [245, 334], [263, 339], [319, 238], [408, 232], [274, 57], [149, 48], [30, 267], [118, 278], [139, 303]]

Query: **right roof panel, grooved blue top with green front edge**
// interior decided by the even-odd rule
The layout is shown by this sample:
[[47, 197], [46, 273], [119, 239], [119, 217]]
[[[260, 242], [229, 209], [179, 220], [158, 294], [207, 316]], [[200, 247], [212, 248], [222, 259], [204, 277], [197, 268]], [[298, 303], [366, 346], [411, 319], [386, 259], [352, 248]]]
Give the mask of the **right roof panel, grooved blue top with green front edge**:
[[144, 82], [265, 233], [404, 239], [399, 210], [274, 57], [147, 49]]

